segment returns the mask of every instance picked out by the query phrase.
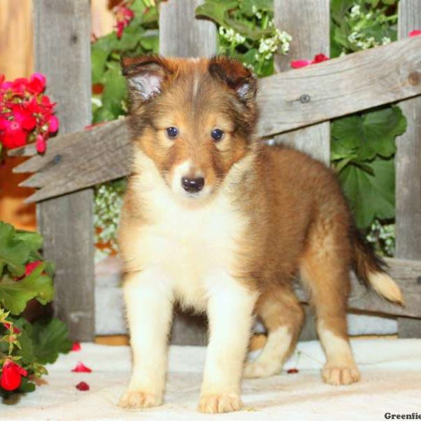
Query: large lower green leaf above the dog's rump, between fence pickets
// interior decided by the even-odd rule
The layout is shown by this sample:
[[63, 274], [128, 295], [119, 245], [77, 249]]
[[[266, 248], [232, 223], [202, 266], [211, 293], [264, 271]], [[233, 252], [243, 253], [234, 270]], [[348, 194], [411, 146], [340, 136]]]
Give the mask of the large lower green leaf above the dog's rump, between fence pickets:
[[394, 218], [394, 159], [376, 158], [370, 163], [373, 175], [356, 165], [339, 174], [342, 189], [354, 213], [357, 227], [365, 229], [373, 219]]

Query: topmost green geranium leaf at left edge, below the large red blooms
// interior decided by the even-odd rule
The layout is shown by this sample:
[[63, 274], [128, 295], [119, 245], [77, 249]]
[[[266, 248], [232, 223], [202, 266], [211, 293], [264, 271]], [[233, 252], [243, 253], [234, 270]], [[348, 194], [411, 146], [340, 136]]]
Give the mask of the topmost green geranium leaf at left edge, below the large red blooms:
[[12, 225], [0, 221], [0, 275], [7, 265], [13, 275], [22, 276], [25, 273], [29, 250], [23, 241], [16, 238]]

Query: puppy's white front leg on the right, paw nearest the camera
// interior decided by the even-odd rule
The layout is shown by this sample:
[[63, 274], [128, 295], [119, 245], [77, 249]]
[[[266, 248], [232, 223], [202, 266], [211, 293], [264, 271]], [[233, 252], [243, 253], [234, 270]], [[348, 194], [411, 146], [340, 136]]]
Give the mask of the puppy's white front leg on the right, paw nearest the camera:
[[210, 340], [199, 401], [204, 413], [241, 408], [241, 370], [257, 298], [235, 279], [223, 277], [211, 288], [208, 300]]

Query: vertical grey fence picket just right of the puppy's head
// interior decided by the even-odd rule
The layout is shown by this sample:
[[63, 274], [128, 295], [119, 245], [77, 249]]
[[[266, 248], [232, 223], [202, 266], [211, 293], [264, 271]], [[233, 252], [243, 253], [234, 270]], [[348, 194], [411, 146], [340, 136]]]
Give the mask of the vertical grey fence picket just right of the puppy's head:
[[[276, 55], [281, 72], [290, 69], [292, 60], [311, 60], [330, 51], [330, 0], [275, 0], [275, 25], [293, 36], [288, 55]], [[330, 161], [330, 123], [315, 124], [299, 131], [276, 136], [276, 142], [296, 149], [328, 164]]]

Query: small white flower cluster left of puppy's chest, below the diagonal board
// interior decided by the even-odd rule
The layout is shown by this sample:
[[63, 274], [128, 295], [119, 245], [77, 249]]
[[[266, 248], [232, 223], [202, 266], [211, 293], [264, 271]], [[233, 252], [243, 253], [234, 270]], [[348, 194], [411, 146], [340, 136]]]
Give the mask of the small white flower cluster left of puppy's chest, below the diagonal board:
[[95, 243], [109, 243], [111, 253], [116, 250], [116, 232], [119, 225], [120, 210], [123, 204], [121, 188], [112, 184], [103, 184], [95, 189], [95, 212], [93, 225], [95, 227]]

